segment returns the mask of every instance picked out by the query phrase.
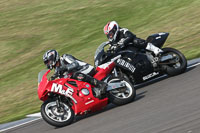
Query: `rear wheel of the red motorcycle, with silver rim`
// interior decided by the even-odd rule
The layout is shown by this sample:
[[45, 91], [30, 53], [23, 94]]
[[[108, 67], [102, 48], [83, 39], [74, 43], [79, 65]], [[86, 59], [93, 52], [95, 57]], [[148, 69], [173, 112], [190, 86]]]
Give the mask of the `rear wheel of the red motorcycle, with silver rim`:
[[130, 81], [126, 78], [111, 78], [108, 83], [121, 82], [125, 84], [125, 88], [120, 90], [111, 90], [109, 92], [109, 101], [115, 105], [124, 105], [132, 102], [135, 99], [136, 91]]

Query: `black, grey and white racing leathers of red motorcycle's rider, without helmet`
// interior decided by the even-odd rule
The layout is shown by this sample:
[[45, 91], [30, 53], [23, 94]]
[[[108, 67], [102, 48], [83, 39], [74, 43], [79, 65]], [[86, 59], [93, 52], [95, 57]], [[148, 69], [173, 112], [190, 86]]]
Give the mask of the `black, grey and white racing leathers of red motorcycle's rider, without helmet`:
[[71, 78], [87, 82], [95, 86], [96, 88], [94, 88], [95, 90], [93, 91], [95, 91], [96, 97], [100, 97], [102, 94], [105, 94], [107, 84], [92, 77], [95, 73], [93, 66], [80, 61], [69, 54], [62, 55], [59, 63], [60, 64], [55, 67], [55, 73], [51, 79], [55, 79], [56, 77], [63, 78], [67, 76], [67, 73], [72, 73]]

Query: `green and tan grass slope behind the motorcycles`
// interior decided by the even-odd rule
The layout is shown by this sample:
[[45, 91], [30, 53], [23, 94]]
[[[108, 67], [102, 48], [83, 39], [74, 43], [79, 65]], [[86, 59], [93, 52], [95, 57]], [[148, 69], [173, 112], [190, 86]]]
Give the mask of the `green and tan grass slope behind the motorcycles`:
[[37, 74], [49, 49], [93, 64], [95, 49], [106, 41], [104, 25], [146, 38], [170, 32], [165, 46], [187, 59], [200, 57], [200, 0], [1, 0], [0, 123], [38, 112]]

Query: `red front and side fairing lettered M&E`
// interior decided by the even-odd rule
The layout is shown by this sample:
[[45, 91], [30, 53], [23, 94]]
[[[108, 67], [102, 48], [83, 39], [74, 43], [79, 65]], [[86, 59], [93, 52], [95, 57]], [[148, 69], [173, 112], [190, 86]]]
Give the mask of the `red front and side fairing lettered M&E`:
[[[101, 110], [108, 104], [108, 98], [99, 100], [94, 97], [90, 84], [70, 78], [48, 81], [46, 76], [49, 72], [50, 71], [43, 75], [42, 81], [38, 87], [38, 97], [40, 100], [47, 100], [48, 93], [57, 93], [59, 95], [69, 97], [73, 103], [72, 109], [75, 114], [95, 112], [97, 110]], [[77, 87], [69, 84], [69, 82], [76, 83]], [[82, 89], [87, 89], [89, 94], [84, 95]]]

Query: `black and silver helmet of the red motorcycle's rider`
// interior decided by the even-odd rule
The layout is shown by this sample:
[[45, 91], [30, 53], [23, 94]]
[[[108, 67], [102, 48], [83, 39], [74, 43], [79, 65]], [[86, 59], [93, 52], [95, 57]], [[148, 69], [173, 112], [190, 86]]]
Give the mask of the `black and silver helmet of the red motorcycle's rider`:
[[56, 50], [49, 50], [45, 52], [43, 55], [44, 64], [48, 69], [53, 69], [55, 67], [57, 61], [60, 59], [59, 54]]

